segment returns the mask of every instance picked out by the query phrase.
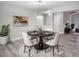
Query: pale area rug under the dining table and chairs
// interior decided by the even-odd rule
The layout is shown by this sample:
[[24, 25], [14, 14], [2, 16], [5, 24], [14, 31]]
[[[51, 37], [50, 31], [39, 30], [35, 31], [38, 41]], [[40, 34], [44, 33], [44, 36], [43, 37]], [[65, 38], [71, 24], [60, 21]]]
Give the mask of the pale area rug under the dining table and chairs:
[[[39, 50], [37, 53], [37, 50], [35, 48], [31, 49], [31, 57], [64, 57], [64, 53], [63, 51], [57, 52], [57, 49], [55, 48], [54, 51], [54, 56], [53, 56], [53, 52], [52, 49], [48, 48], [47, 52], [45, 53], [45, 50]], [[22, 57], [28, 57], [29, 55], [29, 50], [28, 48], [26, 48], [26, 51], [24, 53], [24, 46], [22, 46], [19, 49], [19, 55]]]

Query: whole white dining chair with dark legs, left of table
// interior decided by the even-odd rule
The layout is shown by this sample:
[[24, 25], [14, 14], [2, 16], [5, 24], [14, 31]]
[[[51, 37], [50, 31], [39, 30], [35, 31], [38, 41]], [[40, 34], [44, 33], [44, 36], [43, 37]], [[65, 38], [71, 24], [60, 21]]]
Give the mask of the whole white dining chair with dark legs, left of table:
[[33, 41], [31, 41], [31, 37], [28, 36], [28, 34], [25, 32], [22, 32], [22, 37], [24, 40], [24, 53], [25, 53], [26, 47], [28, 47], [29, 48], [29, 57], [30, 57], [30, 51], [31, 51], [32, 47], [34, 47], [34, 45], [37, 44], [37, 42], [34, 43]]

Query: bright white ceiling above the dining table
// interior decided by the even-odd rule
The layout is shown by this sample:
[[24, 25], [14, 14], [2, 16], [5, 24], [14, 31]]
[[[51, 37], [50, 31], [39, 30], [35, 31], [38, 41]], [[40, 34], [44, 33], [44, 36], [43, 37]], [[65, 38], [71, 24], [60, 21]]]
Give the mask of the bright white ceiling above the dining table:
[[[72, 1], [71, 1], [72, 2]], [[63, 5], [66, 3], [71, 3], [68, 1], [3, 1], [1, 3], [7, 3], [14, 6], [19, 6], [25, 9], [29, 10], [35, 10], [35, 11], [46, 11], [48, 9], [51, 9], [53, 7]]]

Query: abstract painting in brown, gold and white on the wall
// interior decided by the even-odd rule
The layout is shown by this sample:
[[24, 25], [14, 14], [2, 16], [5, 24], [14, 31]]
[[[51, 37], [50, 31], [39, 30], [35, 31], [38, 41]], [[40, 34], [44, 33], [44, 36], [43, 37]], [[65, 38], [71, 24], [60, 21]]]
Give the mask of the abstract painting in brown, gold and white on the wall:
[[28, 17], [25, 16], [13, 16], [14, 26], [27, 26], [28, 25]]

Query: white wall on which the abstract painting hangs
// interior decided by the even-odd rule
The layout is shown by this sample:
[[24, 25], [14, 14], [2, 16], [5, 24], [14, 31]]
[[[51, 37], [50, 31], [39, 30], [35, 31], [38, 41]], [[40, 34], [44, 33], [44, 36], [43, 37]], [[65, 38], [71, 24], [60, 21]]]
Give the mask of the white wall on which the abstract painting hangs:
[[[0, 13], [1, 25], [10, 24], [10, 38], [11, 40], [17, 40], [21, 38], [21, 32], [27, 31], [27, 26], [25, 27], [14, 27], [13, 25], [13, 16], [26, 16], [28, 17], [29, 26], [33, 26], [38, 24], [38, 20], [36, 19], [37, 12], [28, 11], [20, 7], [16, 7], [8, 4], [0, 4], [2, 11]], [[40, 24], [39, 24], [40, 25]]]

